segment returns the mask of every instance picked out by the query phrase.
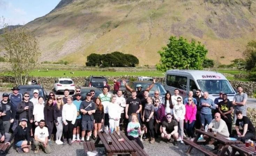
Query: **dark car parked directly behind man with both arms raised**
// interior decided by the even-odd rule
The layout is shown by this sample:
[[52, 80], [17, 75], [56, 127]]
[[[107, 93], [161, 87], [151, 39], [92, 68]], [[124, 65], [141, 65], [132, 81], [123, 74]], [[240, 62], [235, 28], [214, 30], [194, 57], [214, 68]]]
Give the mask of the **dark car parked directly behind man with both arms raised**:
[[[132, 81], [129, 83], [129, 86], [137, 91], [136, 86], [139, 84], [142, 86], [142, 90], [144, 90], [152, 84], [152, 81]], [[155, 91], [159, 91], [159, 96], [161, 96], [162, 98], [165, 97], [166, 90], [161, 83], [155, 83], [153, 88], [151, 88], [149, 91], [149, 96], [154, 96]]]

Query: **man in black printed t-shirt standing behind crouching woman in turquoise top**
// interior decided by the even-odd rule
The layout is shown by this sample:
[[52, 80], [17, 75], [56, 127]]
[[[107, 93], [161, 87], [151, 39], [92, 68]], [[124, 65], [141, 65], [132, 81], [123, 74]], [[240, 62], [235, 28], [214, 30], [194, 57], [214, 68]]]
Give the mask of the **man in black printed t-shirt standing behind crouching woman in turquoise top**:
[[[126, 108], [125, 108], [125, 117], [131, 121], [131, 114], [136, 113], [139, 115], [142, 110], [141, 100], [136, 97], [136, 91], [131, 91], [131, 97], [127, 99]], [[140, 118], [139, 118], [140, 120]]]

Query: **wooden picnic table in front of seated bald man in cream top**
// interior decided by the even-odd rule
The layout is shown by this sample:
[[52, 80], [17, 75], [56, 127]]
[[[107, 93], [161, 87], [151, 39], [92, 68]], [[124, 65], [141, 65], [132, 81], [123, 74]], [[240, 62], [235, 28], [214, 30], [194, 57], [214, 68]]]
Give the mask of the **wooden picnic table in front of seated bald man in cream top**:
[[[210, 132], [210, 131], [208, 131], [208, 132], [205, 132], [204, 130], [200, 130], [200, 129], [195, 129], [195, 132], [197, 133], [197, 135], [196, 135], [196, 138], [195, 138], [195, 140], [193, 141], [193, 143], [191, 143], [191, 145], [189, 146], [189, 148], [188, 148], [188, 150], [187, 150], [187, 153], [190, 153], [191, 152], [191, 150], [194, 148], [193, 146], [195, 146], [195, 143], [196, 143], [196, 145], [211, 145], [211, 144], [213, 144], [214, 142], [213, 141], [211, 141], [211, 139], [214, 139], [214, 140], [216, 140], [216, 141], [218, 141], [219, 142], [219, 148], [218, 149], [220, 149], [220, 151], [218, 151], [218, 153], [217, 153], [217, 155], [218, 156], [224, 156], [224, 154], [226, 153], [226, 152], [228, 152], [228, 154], [230, 153], [229, 151], [228, 151], [228, 147], [230, 146], [230, 145], [235, 145], [235, 144], [240, 144], [240, 143], [242, 143], [241, 141], [233, 141], [233, 140], [229, 140], [229, 139], [226, 139], [227, 137], [225, 137], [224, 135], [221, 135], [221, 134], [219, 134], [219, 133], [217, 133], [217, 136], [216, 137], [214, 137], [214, 133], [213, 132]], [[198, 139], [200, 138], [200, 135], [207, 135], [208, 136], [208, 139], [207, 140], [205, 140], [205, 141], [198, 141]], [[186, 142], [188, 142], [188, 141], [186, 141]], [[189, 143], [188, 143], [189, 144]], [[198, 148], [197, 148], [198, 149]], [[201, 148], [202, 149], [202, 148]], [[200, 150], [200, 149], [199, 149]], [[208, 153], [209, 153], [209, 155], [212, 153], [212, 151], [208, 151]], [[212, 153], [212, 155], [214, 155], [213, 153]]]

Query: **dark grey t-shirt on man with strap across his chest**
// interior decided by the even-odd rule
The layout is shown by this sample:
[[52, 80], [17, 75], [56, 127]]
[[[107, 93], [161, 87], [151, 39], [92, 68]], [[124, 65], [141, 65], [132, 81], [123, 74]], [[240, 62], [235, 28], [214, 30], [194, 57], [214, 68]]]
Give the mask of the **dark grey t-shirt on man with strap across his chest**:
[[[80, 105], [80, 109], [84, 109], [86, 111], [90, 111], [90, 110], [95, 110], [95, 103], [93, 101], [89, 101], [87, 102], [86, 100], [84, 100], [81, 105]], [[82, 114], [82, 120], [84, 121], [93, 121], [93, 114], [89, 115], [88, 113], [86, 114]]]

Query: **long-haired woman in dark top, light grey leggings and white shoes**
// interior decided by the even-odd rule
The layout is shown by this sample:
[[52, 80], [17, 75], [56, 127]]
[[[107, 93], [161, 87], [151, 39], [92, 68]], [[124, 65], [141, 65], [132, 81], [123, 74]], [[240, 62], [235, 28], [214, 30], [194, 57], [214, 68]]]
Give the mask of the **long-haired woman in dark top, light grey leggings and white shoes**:
[[62, 101], [62, 98], [60, 96], [57, 97], [56, 105], [54, 106], [54, 122], [56, 125], [56, 141], [55, 143], [57, 145], [63, 144], [63, 142], [60, 140], [63, 132], [63, 122], [62, 122], [62, 108], [63, 108], [64, 102]]

